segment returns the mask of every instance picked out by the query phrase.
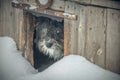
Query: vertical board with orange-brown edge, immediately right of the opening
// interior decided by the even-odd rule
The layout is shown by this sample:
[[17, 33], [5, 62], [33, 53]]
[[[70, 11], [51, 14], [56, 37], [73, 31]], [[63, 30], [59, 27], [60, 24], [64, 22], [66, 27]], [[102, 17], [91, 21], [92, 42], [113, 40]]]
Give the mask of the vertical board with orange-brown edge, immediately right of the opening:
[[[65, 12], [79, 15], [80, 9], [79, 5], [67, 1], [65, 4]], [[66, 54], [77, 54], [78, 51], [78, 25], [79, 19], [77, 20], [67, 20], [64, 19], [64, 50]]]

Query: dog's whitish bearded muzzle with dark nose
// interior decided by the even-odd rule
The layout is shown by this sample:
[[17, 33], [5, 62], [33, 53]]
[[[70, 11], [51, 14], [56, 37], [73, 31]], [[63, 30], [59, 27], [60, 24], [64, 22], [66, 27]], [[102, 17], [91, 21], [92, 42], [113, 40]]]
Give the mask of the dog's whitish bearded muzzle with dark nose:
[[50, 58], [54, 58], [54, 60], [59, 60], [63, 57], [63, 47], [54, 39], [39, 40], [38, 48], [40, 52]]

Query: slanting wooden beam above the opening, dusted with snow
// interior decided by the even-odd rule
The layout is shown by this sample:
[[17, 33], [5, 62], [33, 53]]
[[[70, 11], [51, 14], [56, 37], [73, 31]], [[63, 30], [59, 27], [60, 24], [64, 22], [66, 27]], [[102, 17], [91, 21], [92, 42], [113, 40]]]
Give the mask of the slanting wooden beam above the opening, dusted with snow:
[[56, 16], [56, 17], [60, 17], [60, 18], [65, 18], [65, 19], [70, 19], [70, 20], [77, 20], [77, 16], [71, 13], [65, 13], [62, 11], [56, 11], [56, 10], [51, 10], [51, 9], [41, 9], [41, 8], [37, 8], [36, 9], [31, 9], [31, 5], [30, 4], [26, 4], [26, 3], [15, 3], [12, 2], [12, 6], [15, 8], [19, 8], [19, 9], [25, 9], [28, 11], [33, 11], [33, 12], [37, 12], [37, 13], [42, 13], [42, 14], [47, 14], [50, 16]]

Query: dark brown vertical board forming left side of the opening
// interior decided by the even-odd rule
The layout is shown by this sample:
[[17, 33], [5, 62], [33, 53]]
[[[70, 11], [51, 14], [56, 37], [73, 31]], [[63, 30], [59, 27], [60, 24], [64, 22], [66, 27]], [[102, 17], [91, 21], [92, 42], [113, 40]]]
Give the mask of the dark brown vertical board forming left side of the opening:
[[27, 41], [26, 41], [26, 57], [28, 61], [34, 65], [33, 59], [33, 34], [34, 34], [34, 25], [33, 25], [33, 17], [31, 14], [27, 14]]

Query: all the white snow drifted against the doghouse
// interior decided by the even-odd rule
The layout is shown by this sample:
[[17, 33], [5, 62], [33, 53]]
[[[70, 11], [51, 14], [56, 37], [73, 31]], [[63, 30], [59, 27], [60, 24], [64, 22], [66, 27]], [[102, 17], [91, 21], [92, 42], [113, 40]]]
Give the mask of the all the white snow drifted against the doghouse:
[[66, 56], [37, 73], [19, 54], [15, 42], [9, 37], [0, 37], [0, 74], [7, 77], [4, 80], [120, 80], [120, 75], [78, 55]]

